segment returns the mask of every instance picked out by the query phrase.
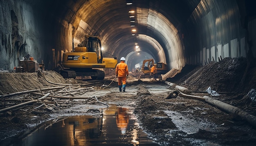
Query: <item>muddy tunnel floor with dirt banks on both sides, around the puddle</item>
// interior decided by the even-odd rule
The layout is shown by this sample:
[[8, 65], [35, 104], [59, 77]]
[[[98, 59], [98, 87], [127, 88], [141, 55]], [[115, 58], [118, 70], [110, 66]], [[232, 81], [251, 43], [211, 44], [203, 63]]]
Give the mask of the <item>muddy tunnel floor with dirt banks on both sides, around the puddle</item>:
[[[168, 78], [167, 81], [184, 86], [191, 91], [205, 91], [211, 86], [211, 89], [217, 93], [225, 92], [213, 97], [214, 99], [256, 116], [256, 103], [247, 96], [251, 89], [256, 88], [256, 68], [255, 64], [249, 66], [246, 77], [242, 79], [246, 66], [245, 58], [225, 58], [205, 66], [185, 66], [181, 73]], [[0, 73], [0, 95], [61, 86], [52, 83], [76, 84], [76, 88], [93, 86], [97, 91], [86, 91], [83, 94], [70, 94], [65, 97], [97, 96], [97, 99], [103, 103], [133, 108], [141, 128], [161, 146], [250, 146], [256, 143], [255, 125], [253, 126], [238, 115], [225, 112], [200, 100], [184, 97], [166, 99], [175, 89], [153, 79], [138, 80], [131, 76], [128, 79], [127, 92], [119, 92], [117, 80], [112, 82], [113, 78], [106, 77], [101, 81], [65, 80], [54, 71], [45, 71], [45, 78], [41, 73]], [[106, 85], [109, 86], [102, 89]], [[152, 88], [157, 89], [158, 85], [166, 86], [168, 90], [154, 92]], [[53, 92], [57, 91], [60, 90], [48, 92], [53, 95]], [[37, 93], [45, 94], [46, 92], [38, 91]], [[211, 96], [207, 93], [190, 94], [200, 97]], [[16, 100], [15, 104], [18, 104], [25, 99], [39, 97], [42, 96], [33, 93], [27, 93], [25, 96], [0, 97], [0, 109], [13, 105], [13, 102], [7, 102], [4, 99], [23, 99]], [[88, 101], [65, 99], [62, 104], [58, 104], [61, 101], [57, 98], [47, 98], [44, 101], [48, 102], [48, 106], [39, 107], [42, 103], [33, 103], [0, 113], [0, 139], [11, 137], [56, 117], [88, 114], [90, 109], [106, 108], [106, 105], [93, 99]], [[54, 102], [51, 103], [51, 101]]]

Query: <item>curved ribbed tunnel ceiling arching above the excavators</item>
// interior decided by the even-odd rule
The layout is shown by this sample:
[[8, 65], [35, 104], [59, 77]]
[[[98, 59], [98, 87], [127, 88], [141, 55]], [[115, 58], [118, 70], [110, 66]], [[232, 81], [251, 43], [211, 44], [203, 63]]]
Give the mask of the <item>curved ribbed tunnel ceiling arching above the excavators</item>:
[[[135, 43], [156, 61], [170, 62], [175, 53], [182, 54], [177, 29], [200, 0], [133, 0], [131, 5], [127, 1], [132, 0], [62, 1], [58, 15], [66, 23], [58, 23], [72, 25], [74, 30], [68, 31], [75, 45], [85, 34], [101, 36], [105, 51], [118, 59], [135, 51]], [[129, 16], [135, 16], [135, 27], [131, 27]], [[132, 29], [136, 29], [134, 36]]]

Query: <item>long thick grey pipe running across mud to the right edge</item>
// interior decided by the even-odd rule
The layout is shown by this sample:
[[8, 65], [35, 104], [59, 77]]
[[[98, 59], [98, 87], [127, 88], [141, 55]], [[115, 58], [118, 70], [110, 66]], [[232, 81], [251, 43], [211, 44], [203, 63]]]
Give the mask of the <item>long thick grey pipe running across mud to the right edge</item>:
[[[213, 99], [212, 97], [209, 97], [209, 96], [200, 97], [200, 96], [194, 96], [194, 95], [186, 95], [184, 93], [178, 93], [177, 94], [177, 91], [172, 92], [168, 97], [177, 97], [177, 96], [207, 102], [207, 103], [209, 103], [213, 106], [216, 106], [219, 109], [222, 109], [223, 111], [226, 111], [228, 113], [233, 113], [235, 115], [238, 115], [238, 116], [244, 118], [247, 122], [249, 122], [252, 126], [254, 126], [254, 128], [256, 128], [256, 117], [254, 115], [251, 115], [251, 114], [247, 113], [246, 111], [243, 111], [242, 109], [240, 109], [236, 106], [232, 106], [232, 105], [227, 104], [225, 102], [221, 102], [221, 101]], [[167, 99], [168, 99], [168, 97], [167, 97]]]

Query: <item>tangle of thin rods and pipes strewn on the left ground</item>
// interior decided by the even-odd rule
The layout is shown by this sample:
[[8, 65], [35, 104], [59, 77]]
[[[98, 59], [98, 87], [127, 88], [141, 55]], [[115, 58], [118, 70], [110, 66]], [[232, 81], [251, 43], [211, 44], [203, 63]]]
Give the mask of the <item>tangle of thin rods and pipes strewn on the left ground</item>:
[[[42, 74], [43, 74], [43, 77], [45, 78], [45, 74], [44, 73], [42, 73]], [[112, 80], [112, 82], [115, 80], [115, 78]], [[52, 107], [50, 107], [48, 105], [55, 104], [56, 106], [65, 106], [64, 104], [84, 103], [84, 101], [78, 102], [75, 100], [86, 100], [86, 102], [87, 102], [88, 100], [91, 100], [92, 98], [95, 98], [97, 100], [97, 102], [108, 106], [108, 104], [100, 102], [96, 96], [94, 96], [94, 97], [76, 97], [76, 95], [83, 95], [88, 91], [99, 91], [101, 89], [105, 89], [106, 87], [110, 86], [110, 84], [112, 84], [112, 82], [110, 82], [110, 84], [108, 84], [108, 85], [103, 84], [100, 87], [90, 86], [90, 87], [81, 88], [81, 85], [84, 85], [84, 84], [57, 84], [57, 83], [50, 82], [46, 78], [45, 78], [45, 80], [51, 84], [61, 85], [61, 86], [35, 89], [35, 90], [27, 90], [27, 91], [22, 91], [22, 92], [11, 93], [8, 95], [0, 95], [0, 102], [3, 102], [4, 106], [9, 106], [9, 107], [5, 107], [5, 108], [1, 109], [0, 113], [4, 112], [4, 111], [9, 111], [13, 108], [17, 108], [17, 107], [20, 107], [23, 105], [38, 102], [40, 99], [45, 99], [45, 100], [38, 102], [38, 103], [42, 103], [42, 104], [40, 106], [35, 107], [34, 109], [40, 108], [41, 106], [46, 106], [47, 109], [52, 110]], [[20, 99], [20, 97], [18, 97], [18, 95], [23, 95], [22, 99]], [[38, 98], [38, 96], [40, 98]], [[44, 98], [41, 96], [43, 96]], [[13, 97], [13, 98], [10, 98], [10, 97]], [[73, 101], [73, 102], [71, 102], [71, 101]], [[20, 104], [17, 104], [17, 103], [20, 103]], [[13, 104], [17, 104], [17, 105], [12, 106]]]

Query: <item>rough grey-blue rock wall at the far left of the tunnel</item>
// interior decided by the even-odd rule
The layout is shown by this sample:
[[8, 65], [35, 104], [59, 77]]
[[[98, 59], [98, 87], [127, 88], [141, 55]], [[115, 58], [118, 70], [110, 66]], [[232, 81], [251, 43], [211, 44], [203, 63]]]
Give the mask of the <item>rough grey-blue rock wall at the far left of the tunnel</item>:
[[12, 71], [22, 57], [43, 60], [40, 13], [29, 0], [0, 0], [0, 68]]

